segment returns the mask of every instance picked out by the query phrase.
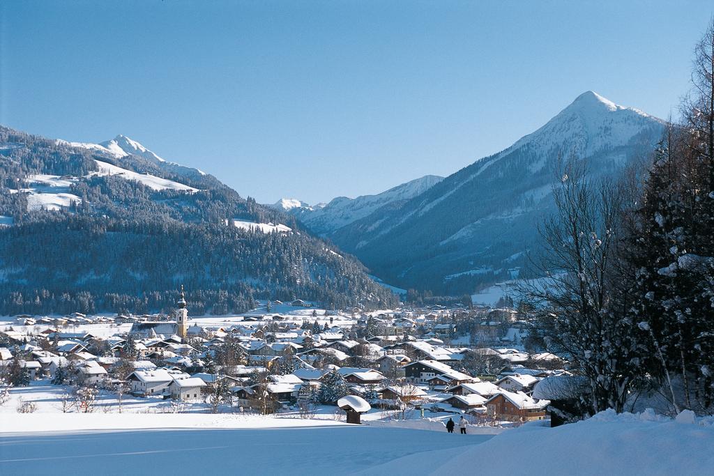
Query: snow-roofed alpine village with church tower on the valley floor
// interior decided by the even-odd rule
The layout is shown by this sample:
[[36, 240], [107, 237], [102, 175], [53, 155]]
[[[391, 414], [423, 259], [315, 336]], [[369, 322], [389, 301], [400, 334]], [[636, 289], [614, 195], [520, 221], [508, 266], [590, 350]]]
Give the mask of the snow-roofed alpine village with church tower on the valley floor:
[[558, 425], [553, 384], [574, 377], [533, 348], [528, 328], [511, 308], [302, 300], [188, 318], [183, 290], [169, 315], [16, 316], [0, 327], [0, 411]]

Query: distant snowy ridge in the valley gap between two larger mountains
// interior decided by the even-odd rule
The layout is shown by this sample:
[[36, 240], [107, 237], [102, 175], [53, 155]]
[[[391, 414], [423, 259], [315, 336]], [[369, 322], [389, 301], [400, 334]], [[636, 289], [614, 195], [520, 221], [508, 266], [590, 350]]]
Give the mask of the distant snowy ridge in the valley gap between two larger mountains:
[[363, 195], [357, 198], [337, 197], [326, 205], [318, 203], [309, 206], [298, 200], [283, 198], [273, 207], [298, 217], [313, 233], [330, 236], [339, 228], [365, 218], [381, 208], [398, 206], [424, 193], [442, 180], [443, 177], [423, 176], [376, 195]]

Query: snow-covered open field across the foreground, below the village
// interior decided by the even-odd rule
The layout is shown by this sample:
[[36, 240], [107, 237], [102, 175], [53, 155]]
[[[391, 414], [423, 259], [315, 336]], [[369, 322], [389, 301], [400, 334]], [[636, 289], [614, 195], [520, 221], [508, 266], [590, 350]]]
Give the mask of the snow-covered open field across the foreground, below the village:
[[[431, 414], [391, 420], [373, 410], [347, 425], [335, 407], [315, 418], [212, 415], [203, 403], [171, 413], [159, 398], [101, 395], [93, 413], [61, 412], [65, 389], [34, 382], [0, 407], [0, 475], [147, 474], [524, 474], [710, 475], [714, 417], [677, 420], [643, 412], [603, 412], [558, 428], [533, 422], [511, 430], [469, 427], [450, 435]], [[32, 414], [16, 412], [19, 397]], [[424, 431], [430, 430], [430, 431]]]

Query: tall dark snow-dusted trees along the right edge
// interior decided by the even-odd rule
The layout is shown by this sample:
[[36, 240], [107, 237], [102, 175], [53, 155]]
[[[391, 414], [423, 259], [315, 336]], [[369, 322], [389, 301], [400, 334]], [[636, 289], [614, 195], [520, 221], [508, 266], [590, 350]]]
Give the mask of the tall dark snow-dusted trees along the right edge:
[[588, 382], [582, 411], [634, 400], [714, 413], [714, 21], [695, 49], [693, 89], [644, 171], [588, 181], [566, 161], [543, 225], [560, 269], [528, 290], [542, 343]]

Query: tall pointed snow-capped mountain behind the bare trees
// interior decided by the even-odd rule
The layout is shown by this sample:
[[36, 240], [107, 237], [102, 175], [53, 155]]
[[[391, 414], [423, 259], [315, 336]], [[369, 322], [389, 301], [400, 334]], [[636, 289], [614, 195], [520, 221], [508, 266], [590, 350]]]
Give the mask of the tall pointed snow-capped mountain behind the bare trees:
[[513, 146], [330, 238], [402, 288], [461, 293], [515, 278], [552, 209], [558, 157], [575, 153], [593, 176], [615, 174], [651, 153], [662, 131], [660, 119], [588, 91]]

